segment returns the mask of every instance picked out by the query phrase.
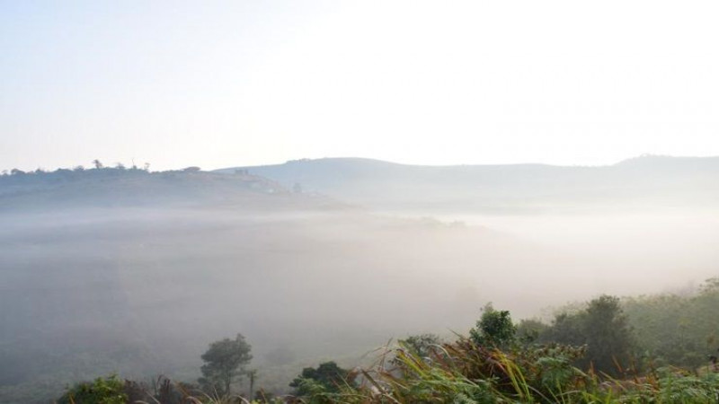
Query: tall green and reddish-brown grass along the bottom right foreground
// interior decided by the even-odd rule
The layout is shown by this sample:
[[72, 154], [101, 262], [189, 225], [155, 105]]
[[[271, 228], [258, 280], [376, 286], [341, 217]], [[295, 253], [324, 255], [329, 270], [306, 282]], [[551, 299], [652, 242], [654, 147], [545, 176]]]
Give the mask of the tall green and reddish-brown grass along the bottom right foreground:
[[411, 403], [716, 403], [719, 374], [662, 368], [611, 378], [573, 366], [581, 348], [478, 347], [466, 338], [419, 356], [402, 344], [357, 369], [339, 393], [316, 391], [306, 404]]

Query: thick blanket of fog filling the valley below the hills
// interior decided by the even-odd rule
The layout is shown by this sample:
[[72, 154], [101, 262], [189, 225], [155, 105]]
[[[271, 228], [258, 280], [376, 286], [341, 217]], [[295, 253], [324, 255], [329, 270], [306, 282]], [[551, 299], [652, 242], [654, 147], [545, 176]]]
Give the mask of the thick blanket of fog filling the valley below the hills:
[[[253, 366], [351, 362], [389, 338], [471, 328], [716, 274], [719, 215], [478, 215], [202, 206], [0, 214], [2, 384], [120, 372], [192, 380], [241, 332]], [[284, 372], [284, 373], [282, 373]], [[58, 375], [59, 374], [59, 375]], [[274, 384], [272, 384], [274, 383]]]

